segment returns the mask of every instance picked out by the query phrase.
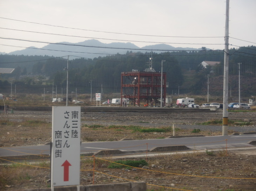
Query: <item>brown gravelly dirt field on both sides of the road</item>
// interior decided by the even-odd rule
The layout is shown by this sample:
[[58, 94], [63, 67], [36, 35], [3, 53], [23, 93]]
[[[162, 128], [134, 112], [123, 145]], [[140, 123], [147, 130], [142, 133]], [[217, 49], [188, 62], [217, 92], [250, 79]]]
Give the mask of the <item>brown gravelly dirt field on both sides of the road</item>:
[[[16, 112], [1, 114], [2, 120], [22, 122], [23, 120], [43, 120], [49, 125], [45, 127], [0, 125], [0, 144], [2, 147], [37, 145], [50, 142], [52, 116], [50, 112]], [[167, 133], [133, 133], [132, 131], [113, 131], [108, 128], [89, 128], [90, 125], [138, 125], [144, 127], [168, 127], [175, 124], [181, 131], [176, 135], [191, 134], [190, 130], [199, 128], [198, 134], [221, 135], [220, 126], [200, 126], [197, 123], [211, 119], [222, 119], [218, 113], [83, 113], [81, 140], [112, 141], [122, 138], [153, 139], [172, 135]], [[229, 134], [234, 132], [256, 131], [255, 112], [230, 113], [229, 119], [251, 121], [250, 126], [229, 127]], [[183, 130], [184, 128], [184, 130]], [[196, 133], [195, 133], [196, 134]], [[107, 168], [109, 162], [115, 161], [112, 156], [106, 156], [104, 161], [96, 159], [95, 184], [117, 183], [127, 181], [145, 181], [148, 190], [256, 190], [256, 149], [250, 150], [216, 150], [194, 153], [159, 154], [147, 157], [148, 170], [136, 168]], [[129, 160], [146, 160], [146, 157]], [[11, 160], [11, 159], [8, 159]], [[36, 165], [35, 165], [36, 166]], [[50, 169], [39, 167], [7, 167], [0, 166], [0, 190], [46, 188]], [[36, 169], [36, 170], [35, 170]], [[80, 184], [92, 184], [92, 159], [81, 162]], [[12, 175], [13, 172], [15, 174]], [[26, 176], [26, 178], [21, 178]]]

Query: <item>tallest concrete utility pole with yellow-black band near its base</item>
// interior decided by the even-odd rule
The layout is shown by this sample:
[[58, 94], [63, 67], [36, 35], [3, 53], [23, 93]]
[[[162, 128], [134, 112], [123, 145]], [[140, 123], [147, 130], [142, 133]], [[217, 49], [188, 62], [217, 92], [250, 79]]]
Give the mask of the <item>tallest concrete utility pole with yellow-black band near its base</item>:
[[223, 123], [222, 135], [228, 135], [228, 40], [229, 40], [229, 0], [226, 0], [224, 79], [223, 79]]

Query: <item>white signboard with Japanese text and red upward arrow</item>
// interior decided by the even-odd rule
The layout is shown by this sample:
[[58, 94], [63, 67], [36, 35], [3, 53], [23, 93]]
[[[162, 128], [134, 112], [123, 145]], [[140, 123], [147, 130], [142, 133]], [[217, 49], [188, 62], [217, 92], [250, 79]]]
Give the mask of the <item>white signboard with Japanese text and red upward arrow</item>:
[[53, 106], [52, 188], [80, 184], [81, 106]]

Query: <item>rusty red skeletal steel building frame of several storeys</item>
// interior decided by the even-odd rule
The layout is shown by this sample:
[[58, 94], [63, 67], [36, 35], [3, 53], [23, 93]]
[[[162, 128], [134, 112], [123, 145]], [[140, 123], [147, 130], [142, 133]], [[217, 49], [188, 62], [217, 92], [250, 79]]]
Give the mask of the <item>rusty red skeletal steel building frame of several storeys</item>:
[[165, 105], [166, 72], [122, 72], [121, 73], [121, 104], [123, 98], [129, 98], [134, 106]]

